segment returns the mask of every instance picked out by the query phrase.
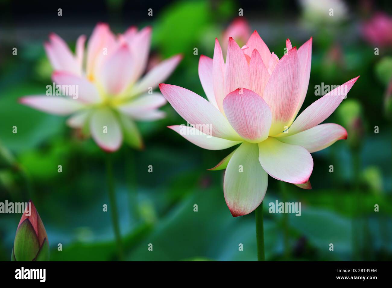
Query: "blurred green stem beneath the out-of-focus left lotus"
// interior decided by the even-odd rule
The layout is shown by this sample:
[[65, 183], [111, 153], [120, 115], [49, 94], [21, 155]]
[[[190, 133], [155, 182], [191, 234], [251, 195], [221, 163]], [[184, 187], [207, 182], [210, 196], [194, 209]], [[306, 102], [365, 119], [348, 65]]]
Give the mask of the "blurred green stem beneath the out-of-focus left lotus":
[[107, 154], [106, 158], [106, 174], [107, 174], [107, 184], [109, 191], [109, 210], [111, 212], [112, 225], [114, 229], [114, 236], [116, 237], [118, 258], [123, 260], [123, 249], [120, 234], [120, 225], [118, 222], [118, 212], [116, 205], [116, 195], [114, 189], [114, 177], [113, 177], [113, 159], [111, 154]]

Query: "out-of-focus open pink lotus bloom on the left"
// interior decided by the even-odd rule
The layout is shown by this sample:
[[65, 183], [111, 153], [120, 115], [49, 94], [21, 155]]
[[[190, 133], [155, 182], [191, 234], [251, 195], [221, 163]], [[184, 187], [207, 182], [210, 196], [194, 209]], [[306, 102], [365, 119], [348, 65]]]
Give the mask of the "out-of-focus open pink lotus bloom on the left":
[[113, 152], [123, 140], [141, 147], [142, 140], [133, 120], [164, 117], [157, 108], [166, 100], [162, 94], [152, 93], [152, 89], [165, 80], [181, 60], [180, 55], [173, 56], [140, 79], [147, 65], [150, 40], [151, 27], [141, 31], [131, 27], [124, 34], [114, 36], [107, 24], [98, 24], [87, 43], [87, 52], [82, 35], [76, 42], [74, 55], [62, 38], [50, 34], [45, 50], [54, 68], [53, 81], [61, 85], [63, 94], [65, 89], [76, 90], [76, 86], [78, 95], [28, 96], [21, 102], [51, 114], [72, 115], [67, 124], [89, 130], [103, 150]]

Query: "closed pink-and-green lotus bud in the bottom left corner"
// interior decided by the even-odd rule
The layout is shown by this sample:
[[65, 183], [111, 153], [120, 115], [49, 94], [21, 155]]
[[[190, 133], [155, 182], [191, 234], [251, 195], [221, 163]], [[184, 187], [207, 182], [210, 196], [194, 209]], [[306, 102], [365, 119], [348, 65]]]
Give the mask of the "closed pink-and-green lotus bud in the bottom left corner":
[[30, 216], [26, 211], [16, 229], [12, 261], [49, 261], [49, 242], [44, 223], [31, 200]]

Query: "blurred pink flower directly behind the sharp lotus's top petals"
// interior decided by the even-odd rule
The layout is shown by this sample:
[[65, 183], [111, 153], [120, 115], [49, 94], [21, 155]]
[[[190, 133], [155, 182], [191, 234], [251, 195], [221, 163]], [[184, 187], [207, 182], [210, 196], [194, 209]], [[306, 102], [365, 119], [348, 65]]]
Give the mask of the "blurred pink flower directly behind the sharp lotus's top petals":
[[239, 16], [230, 23], [230, 25], [223, 31], [222, 35], [222, 45], [223, 45], [223, 54], [227, 53], [227, 45], [229, 38], [232, 37], [240, 47], [245, 45], [248, 41], [250, 34], [252, 31], [250, 30], [249, 24], [243, 16]]

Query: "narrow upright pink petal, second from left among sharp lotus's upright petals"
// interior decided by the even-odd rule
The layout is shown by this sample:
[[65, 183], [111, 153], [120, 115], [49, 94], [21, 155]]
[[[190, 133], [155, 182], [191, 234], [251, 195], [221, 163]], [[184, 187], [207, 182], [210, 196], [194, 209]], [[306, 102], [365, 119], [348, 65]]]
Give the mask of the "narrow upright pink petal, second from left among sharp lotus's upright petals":
[[219, 45], [218, 38], [215, 38], [214, 58], [212, 59], [212, 76], [216, 104], [222, 113], [224, 113], [223, 98], [226, 96], [223, 88], [224, 74], [225, 62], [223, 61], [222, 48]]

